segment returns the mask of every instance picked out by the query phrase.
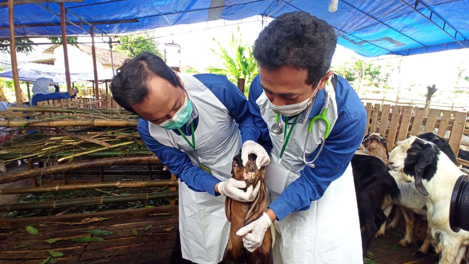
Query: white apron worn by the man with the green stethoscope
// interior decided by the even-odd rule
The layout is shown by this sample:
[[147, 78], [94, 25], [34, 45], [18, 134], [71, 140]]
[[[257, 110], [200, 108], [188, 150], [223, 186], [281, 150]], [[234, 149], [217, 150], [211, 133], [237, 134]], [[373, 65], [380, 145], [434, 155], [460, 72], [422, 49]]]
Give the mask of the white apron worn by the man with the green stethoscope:
[[[326, 117], [331, 123], [332, 130], [337, 120], [337, 103], [332, 85], [326, 86], [325, 90], [329, 91], [330, 95]], [[277, 135], [271, 131], [272, 124], [275, 123], [275, 113], [270, 109], [264, 92], [257, 98], [256, 103], [260, 107], [262, 118], [267, 123], [272, 140], [269, 166], [279, 166], [289, 171], [285, 184], [288, 186], [300, 177], [300, 171], [305, 166], [300, 160], [303, 160], [304, 140], [311, 119], [303, 124], [295, 124], [283, 159], [279, 164], [283, 133]], [[324, 131], [324, 122], [316, 121], [306, 147], [307, 158], [318, 148], [320, 138], [324, 138]], [[265, 177], [267, 181], [269, 175], [266, 173]], [[279, 194], [271, 191], [270, 196], [274, 200]], [[350, 164], [342, 176], [331, 182], [324, 196], [311, 203], [309, 210], [290, 213], [275, 223], [275, 229], [280, 234], [280, 238], [273, 247], [274, 264], [363, 263], [360, 223]]]

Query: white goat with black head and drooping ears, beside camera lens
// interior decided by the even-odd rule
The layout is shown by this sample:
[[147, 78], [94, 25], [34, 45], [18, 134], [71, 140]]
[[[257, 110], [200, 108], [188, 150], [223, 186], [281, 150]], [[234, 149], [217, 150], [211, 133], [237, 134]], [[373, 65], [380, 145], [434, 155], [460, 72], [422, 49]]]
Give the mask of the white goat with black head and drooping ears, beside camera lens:
[[434, 143], [416, 136], [398, 142], [389, 157], [389, 167], [409, 175], [425, 196], [429, 231], [438, 240], [436, 249], [441, 253], [439, 263], [461, 263], [469, 232], [454, 233], [449, 227], [451, 194], [461, 170]]

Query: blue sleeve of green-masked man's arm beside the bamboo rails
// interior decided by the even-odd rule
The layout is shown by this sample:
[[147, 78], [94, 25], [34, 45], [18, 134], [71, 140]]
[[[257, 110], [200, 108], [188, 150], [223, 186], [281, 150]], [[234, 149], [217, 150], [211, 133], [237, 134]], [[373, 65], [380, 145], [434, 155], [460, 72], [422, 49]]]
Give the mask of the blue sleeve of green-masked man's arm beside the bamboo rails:
[[137, 129], [147, 148], [155, 153], [159, 160], [168, 167], [171, 173], [185, 182], [189, 189], [197, 192], [206, 191], [213, 196], [219, 195], [215, 193], [215, 185], [219, 183], [220, 180], [192, 164], [186, 153], [156, 141], [150, 135], [148, 121], [140, 119]]

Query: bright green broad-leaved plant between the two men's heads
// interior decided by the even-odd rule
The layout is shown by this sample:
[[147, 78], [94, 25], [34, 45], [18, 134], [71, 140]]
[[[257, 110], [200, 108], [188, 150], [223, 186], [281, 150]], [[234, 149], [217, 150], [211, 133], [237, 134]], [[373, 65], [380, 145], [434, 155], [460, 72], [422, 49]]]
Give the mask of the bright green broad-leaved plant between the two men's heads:
[[234, 38], [234, 33], [231, 32], [230, 49], [225, 49], [215, 38], [219, 50], [211, 49], [217, 54], [223, 63], [223, 68], [207, 68], [210, 73], [217, 73], [227, 75], [228, 79], [237, 83], [239, 78], [246, 79], [246, 87], [252, 82], [252, 79], [258, 74], [257, 61], [252, 56], [252, 51], [249, 45], [242, 43], [241, 32], [238, 27], [239, 38]]

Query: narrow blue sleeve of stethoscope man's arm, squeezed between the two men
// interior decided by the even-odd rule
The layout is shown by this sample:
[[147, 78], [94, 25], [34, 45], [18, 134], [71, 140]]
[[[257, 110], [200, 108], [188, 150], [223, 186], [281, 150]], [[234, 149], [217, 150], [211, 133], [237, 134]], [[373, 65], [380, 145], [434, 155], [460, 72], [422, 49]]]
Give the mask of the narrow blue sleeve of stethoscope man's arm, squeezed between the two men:
[[269, 135], [269, 128], [267, 127], [267, 123], [265, 123], [264, 119], [262, 119], [260, 108], [256, 104], [256, 100], [262, 92], [261, 78], [257, 75], [249, 88], [248, 106], [254, 120], [254, 124], [256, 124], [260, 132], [257, 143], [261, 144], [267, 153], [270, 153], [272, 150], [272, 141]]

